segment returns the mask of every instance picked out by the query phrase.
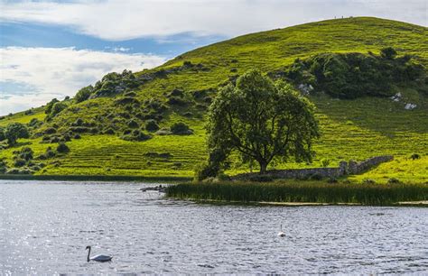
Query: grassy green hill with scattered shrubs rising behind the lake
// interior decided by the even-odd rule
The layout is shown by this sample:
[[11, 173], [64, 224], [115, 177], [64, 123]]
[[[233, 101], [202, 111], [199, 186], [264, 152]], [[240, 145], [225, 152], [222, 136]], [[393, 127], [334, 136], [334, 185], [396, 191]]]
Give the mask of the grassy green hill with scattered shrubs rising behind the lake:
[[[393, 47], [403, 64], [411, 58], [413, 64], [428, 68], [427, 28], [369, 17], [306, 23], [215, 43], [155, 69], [108, 74], [79, 92], [81, 102], [65, 100], [49, 118], [45, 118], [45, 108], [5, 116], [0, 126], [31, 124], [33, 136], [0, 151], [0, 158], [10, 170], [16, 151], [23, 146], [31, 147], [37, 157], [48, 147], [56, 148], [58, 141], [70, 138], [70, 152], [35, 159], [42, 168], [34, 174], [189, 177], [195, 165], [206, 158], [204, 115], [217, 87], [247, 69], [282, 78], [289, 76], [285, 73], [296, 59], [311, 60], [326, 53], [377, 57], [385, 47]], [[395, 63], [389, 64], [389, 69], [396, 67]], [[408, 71], [407, 67], [403, 70]], [[362, 161], [394, 154], [395, 161], [351, 178], [428, 181], [428, 94], [424, 74], [422, 78], [388, 83], [384, 97], [371, 97], [363, 91], [368, 88], [361, 87], [360, 96], [343, 99], [315, 87], [308, 96], [318, 108], [322, 132], [314, 147], [315, 160], [312, 164], [273, 167], [317, 167], [323, 159], [336, 166], [341, 160]], [[394, 76], [391, 79], [395, 80]], [[297, 87], [298, 79], [294, 80]], [[390, 98], [397, 93], [401, 97]], [[405, 109], [407, 104], [416, 106]], [[151, 120], [161, 131], [145, 130]], [[169, 128], [177, 122], [188, 124], [192, 134], [171, 134]], [[148, 140], [147, 135], [151, 136]], [[421, 158], [410, 160], [413, 153]], [[228, 173], [246, 170], [234, 160]]]

